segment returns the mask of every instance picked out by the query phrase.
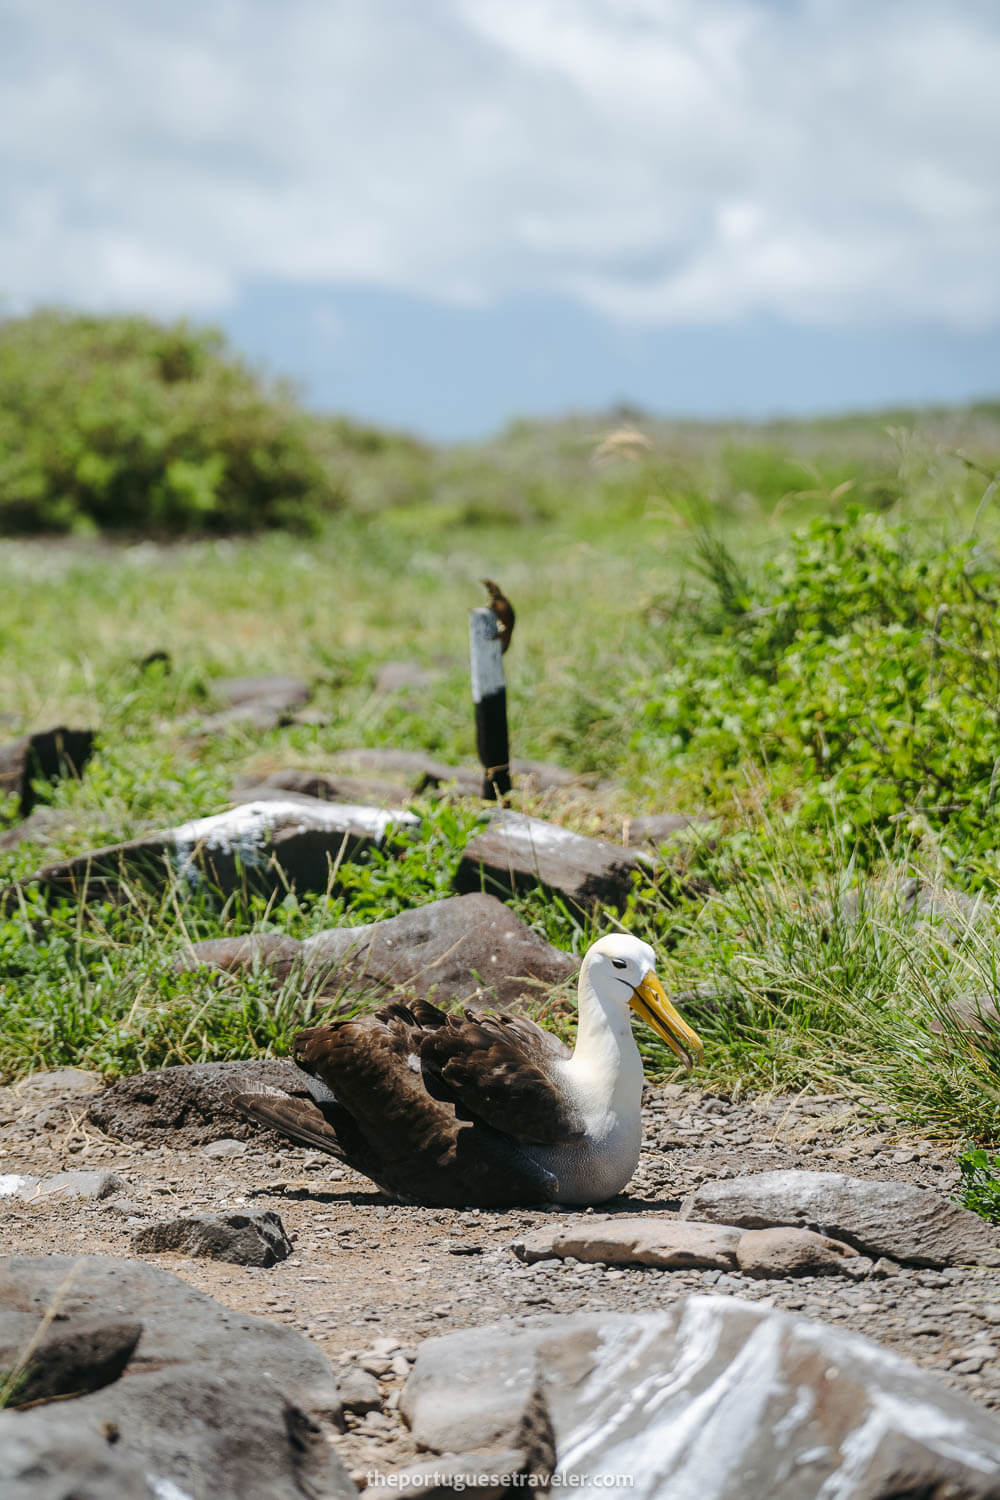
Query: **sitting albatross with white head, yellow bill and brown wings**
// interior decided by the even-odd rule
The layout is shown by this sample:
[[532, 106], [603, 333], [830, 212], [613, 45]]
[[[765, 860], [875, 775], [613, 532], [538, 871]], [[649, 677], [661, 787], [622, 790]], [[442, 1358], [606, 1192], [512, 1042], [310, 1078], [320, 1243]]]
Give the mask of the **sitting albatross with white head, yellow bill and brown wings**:
[[702, 1054], [654, 962], [649, 944], [625, 933], [594, 944], [571, 1054], [523, 1017], [454, 1017], [414, 1000], [300, 1032], [294, 1059], [312, 1100], [265, 1090], [235, 1102], [409, 1203], [603, 1203], [642, 1146], [630, 1008], [688, 1066]]

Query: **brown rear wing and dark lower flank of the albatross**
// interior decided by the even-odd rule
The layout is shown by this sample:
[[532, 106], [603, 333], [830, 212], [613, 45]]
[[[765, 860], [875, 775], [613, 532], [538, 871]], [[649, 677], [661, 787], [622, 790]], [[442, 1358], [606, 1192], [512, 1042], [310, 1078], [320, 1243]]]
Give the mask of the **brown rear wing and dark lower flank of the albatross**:
[[336, 1095], [364, 1144], [345, 1156], [381, 1186], [441, 1206], [508, 1206], [552, 1198], [555, 1179], [496, 1131], [456, 1116], [427, 1089], [421, 1056], [450, 1018], [427, 1002], [313, 1026], [294, 1041], [301, 1068]]

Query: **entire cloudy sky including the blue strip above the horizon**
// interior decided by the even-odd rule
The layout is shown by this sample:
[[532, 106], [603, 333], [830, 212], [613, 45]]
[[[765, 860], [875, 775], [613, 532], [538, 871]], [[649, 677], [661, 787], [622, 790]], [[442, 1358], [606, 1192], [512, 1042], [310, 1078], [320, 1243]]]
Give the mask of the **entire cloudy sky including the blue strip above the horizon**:
[[0, 0], [0, 315], [432, 438], [1000, 394], [996, 0]]

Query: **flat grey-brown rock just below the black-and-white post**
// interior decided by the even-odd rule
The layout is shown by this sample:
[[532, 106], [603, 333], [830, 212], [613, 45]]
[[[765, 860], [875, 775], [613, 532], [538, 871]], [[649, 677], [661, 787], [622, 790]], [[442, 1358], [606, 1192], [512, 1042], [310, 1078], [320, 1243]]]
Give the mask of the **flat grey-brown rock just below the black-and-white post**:
[[636, 870], [648, 867], [648, 856], [634, 849], [502, 810], [465, 846], [453, 884], [457, 891], [501, 896], [543, 885], [583, 912], [595, 906], [621, 910]]

